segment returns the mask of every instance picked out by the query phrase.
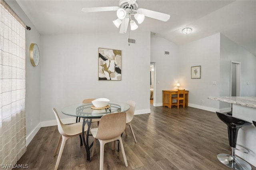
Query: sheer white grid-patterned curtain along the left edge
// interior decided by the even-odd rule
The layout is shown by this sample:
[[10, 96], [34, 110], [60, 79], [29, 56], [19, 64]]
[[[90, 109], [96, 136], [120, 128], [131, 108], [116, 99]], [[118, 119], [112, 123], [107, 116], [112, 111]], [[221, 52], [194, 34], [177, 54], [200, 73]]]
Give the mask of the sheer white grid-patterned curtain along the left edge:
[[25, 55], [24, 23], [0, 0], [1, 166], [15, 165], [26, 151]]

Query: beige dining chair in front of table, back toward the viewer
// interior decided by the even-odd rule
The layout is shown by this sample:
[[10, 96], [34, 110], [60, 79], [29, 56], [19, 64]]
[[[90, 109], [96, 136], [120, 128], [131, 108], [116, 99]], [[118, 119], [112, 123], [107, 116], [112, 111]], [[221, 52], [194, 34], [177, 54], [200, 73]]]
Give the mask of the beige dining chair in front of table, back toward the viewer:
[[125, 127], [126, 113], [118, 112], [102, 116], [98, 128], [91, 129], [92, 136], [94, 137], [92, 156], [94, 154], [97, 139], [100, 142], [100, 170], [103, 170], [104, 164], [104, 145], [115, 140], [119, 140], [125, 166], [128, 166], [121, 138], [121, 134], [124, 132]]

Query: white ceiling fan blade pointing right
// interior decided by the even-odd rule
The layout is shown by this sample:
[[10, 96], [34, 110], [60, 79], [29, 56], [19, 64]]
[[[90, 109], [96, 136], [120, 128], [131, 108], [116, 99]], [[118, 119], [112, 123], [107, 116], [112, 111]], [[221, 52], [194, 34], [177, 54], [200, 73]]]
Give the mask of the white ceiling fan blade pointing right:
[[144, 8], [139, 8], [137, 10], [137, 13], [144, 14], [147, 17], [154, 18], [156, 20], [161, 20], [161, 21], [168, 21], [170, 19], [169, 14], [164, 14], [164, 13], [156, 12], [156, 11], [152, 11], [152, 10], [146, 10]]

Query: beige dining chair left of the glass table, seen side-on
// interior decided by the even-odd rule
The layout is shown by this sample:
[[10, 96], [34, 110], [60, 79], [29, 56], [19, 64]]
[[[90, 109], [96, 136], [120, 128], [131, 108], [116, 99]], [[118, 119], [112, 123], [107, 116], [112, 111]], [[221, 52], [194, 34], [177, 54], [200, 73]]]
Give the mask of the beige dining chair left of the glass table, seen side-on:
[[[58, 130], [61, 134], [59, 140], [58, 140], [58, 144], [56, 146], [55, 152], [54, 152], [54, 156], [56, 156], [58, 149], [60, 147], [60, 151], [58, 153], [58, 158], [55, 164], [55, 168], [54, 170], [58, 169], [59, 163], [60, 163], [60, 158], [62, 156], [62, 152], [66, 143], [66, 140], [68, 140], [69, 138], [72, 138], [74, 136], [77, 136], [79, 134], [82, 134], [82, 125], [83, 123], [73, 123], [73, 124], [69, 124], [69, 125], [64, 125], [61, 121], [60, 121], [60, 117], [56, 111], [55, 108], [52, 108], [54, 115], [56, 117], [57, 123], [58, 123]], [[84, 126], [84, 131], [86, 131], [88, 128], [87, 125]], [[61, 142], [61, 145], [60, 145]]]

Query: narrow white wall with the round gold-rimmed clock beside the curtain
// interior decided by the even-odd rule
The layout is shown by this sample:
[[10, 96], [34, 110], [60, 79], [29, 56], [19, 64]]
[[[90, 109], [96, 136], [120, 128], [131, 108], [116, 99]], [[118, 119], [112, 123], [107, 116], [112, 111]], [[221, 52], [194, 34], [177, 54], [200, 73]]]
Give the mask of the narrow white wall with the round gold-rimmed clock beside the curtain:
[[[37, 67], [33, 67], [29, 59], [29, 47], [31, 43], [36, 43], [40, 47], [40, 34], [34, 28], [34, 25], [26, 14], [22, 11], [16, 1], [6, 1], [7, 4], [16, 12], [16, 14], [22, 19], [22, 21], [31, 27], [31, 30], [26, 30], [26, 144], [28, 144], [36, 132], [40, 128], [40, 67], [41, 63]], [[41, 51], [40, 51], [41, 52]], [[42, 59], [42, 55], [41, 55]]]

